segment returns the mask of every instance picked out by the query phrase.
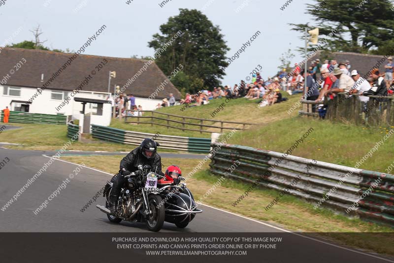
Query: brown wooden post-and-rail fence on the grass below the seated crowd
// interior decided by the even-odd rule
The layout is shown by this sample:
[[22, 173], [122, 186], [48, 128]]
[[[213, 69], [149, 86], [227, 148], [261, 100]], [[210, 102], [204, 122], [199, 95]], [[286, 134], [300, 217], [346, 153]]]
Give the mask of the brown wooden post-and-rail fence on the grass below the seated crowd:
[[[128, 110], [127, 112], [135, 112], [133, 110]], [[206, 132], [206, 133], [216, 133], [219, 131], [207, 131], [207, 130], [203, 130], [203, 128], [211, 128], [211, 129], [219, 129], [220, 133], [223, 132], [223, 130], [244, 130], [246, 128], [246, 125], [254, 125], [253, 123], [247, 123], [247, 122], [235, 122], [235, 121], [222, 121], [222, 120], [212, 120], [212, 119], [201, 119], [201, 118], [195, 118], [195, 117], [185, 117], [185, 116], [180, 116], [180, 115], [175, 115], [175, 114], [169, 114], [169, 113], [160, 113], [160, 112], [156, 112], [156, 111], [143, 111], [142, 113], [151, 113], [150, 116], [125, 116], [125, 122], [126, 123], [136, 123], [136, 124], [151, 124], [153, 125], [159, 125], [159, 126], [164, 126], [167, 128], [171, 128], [171, 129], [178, 129], [178, 130], [182, 130], [182, 131], [197, 131], [200, 133]], [[154, 114], [161, 114], [161, 115], [165, 115], [165, 117], [157, 117], [154, 116]], [[174, 117], [174, 118], [179, 118], [182, 119], [182, 121], [180, 120], [173, 120], [170, 119], [170, 117]], [[137, 121], [128, 121], [128, 119], [137, 119]], [[150, 121], [140, 121], [139, 119], [150, 119]], [[162, 120], [164, 122], [166, 122], [167, 124], [163, 124], [163, 123], [159, 123], [159, 122], [155, 122], [154, 120]], [[187, 121], [189, 120], [189, 121]], [[190, 120], [197, 120], [200, 123], [192, 123]], [[220, 123], [220, 126], [215, 126], [215, 125], [207, 125], [204, 124], [206, 122], [212, 122], [212, 123]], [[177, 123], [177, 124], [182, 124], [182, 126], [176, 126], [176, 125], [170, 125], [171, 123]], [[237, 127], [226, 127], [224, 126], [224, 124], [238, 124], [238, 125], [242, 125], [242, 128], [237, 128]], [[192, 126], [198, 126], [199, 130], [197, 129], [190, 129], [190, 128], [186, 128], [185, 125], [192, 125]]]

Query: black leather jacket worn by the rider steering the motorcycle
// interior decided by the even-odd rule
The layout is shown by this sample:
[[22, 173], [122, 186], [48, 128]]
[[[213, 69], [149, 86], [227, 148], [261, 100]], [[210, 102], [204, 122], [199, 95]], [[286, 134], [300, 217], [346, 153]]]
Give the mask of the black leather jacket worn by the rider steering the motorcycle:
[[157, 174], [164, 176], [162, 172], [162, 157], [158, 153], [156, 153], [155, 158], [148, 159], [140, 152], [139, 147], [135, 148], [131, 152], [129, 152], [121, 161], [120, 161], [120, 170], [122, 168], [130, 172], [138, 171], [138, 165], [150, 165], [152, 167], [152, 171]]

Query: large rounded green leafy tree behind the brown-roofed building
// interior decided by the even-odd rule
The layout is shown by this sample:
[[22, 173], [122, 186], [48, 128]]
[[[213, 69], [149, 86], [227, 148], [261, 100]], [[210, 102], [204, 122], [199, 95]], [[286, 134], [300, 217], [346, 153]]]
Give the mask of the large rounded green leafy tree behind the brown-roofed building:
[[[182, 64], [187, 78], [179, 78], [183, 79], [182, 83], [189, 83], [189, 86], [185, 86], [188, 92], [195, 92], [202, 87], [218, 86], [220, 79], [226, 75], [224, 69], [228, 65], [225, 55], [230, 50], [220, 33], [221, 29], [196, 9], [179, 10], [179, 15], [170, 17], [166, 24], [160, 26], [161, 35], [153, 35], [153, 40], [148, 43], [149, 47], [160, 53], [156, 64], [165, 75], [170, 75]], [[169, 43], [171, 38], [174, 39], [179, 31], [182, 36], [161, 52], [162, 47]], [[174, 82], [176, 83], [175, 80]]]

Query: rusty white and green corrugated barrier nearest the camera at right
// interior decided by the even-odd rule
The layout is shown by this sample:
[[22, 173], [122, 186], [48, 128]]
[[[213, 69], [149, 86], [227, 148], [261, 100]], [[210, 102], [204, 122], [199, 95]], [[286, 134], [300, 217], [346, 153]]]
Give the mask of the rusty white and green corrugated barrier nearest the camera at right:
[[[211, 146], [215, 149], [219, 144]], [[251, 184], [258, 182], [260, 186], [280, 191], [286, 189], [288, 193], [344, 213], [355, 204], [352, 214], [394, 226], [394, 175], [237, 145], [221, 145], [211, 159], [213, 174]], [[234, 163], [236, 169], [228, 173]], [[263, 209], [268, 204], [262, 205]]]

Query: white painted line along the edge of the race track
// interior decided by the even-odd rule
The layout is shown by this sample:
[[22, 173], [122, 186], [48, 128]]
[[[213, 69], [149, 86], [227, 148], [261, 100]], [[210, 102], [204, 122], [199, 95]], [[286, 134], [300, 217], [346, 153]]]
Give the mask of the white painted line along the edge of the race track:
[[[49, 156], [47, 156], [47, 155], [45, 155], [45, 154], [42, 154], [42, 156], [51, 158], [51, 157], [49, 157]], [[54, 159], [55, 159], [55, 160], [62, 161], [62, 162], [74, 164], [74, 165], [79, 165], [79, 164], [76, 164], [76, 163], [73, 163], [73, 162], [69, 162], [69, 161], [65, 161], [65, 160], [61, 160], [61, 159], [57, 159], [57, 158], [54, 158]], [[91, 168], [91, 167], [88, 167], [88, 166], [84, 166], [84, 165], [81, 165], [81, 166], [86, 167], [86, 168], [89, 168], [89, 169], [92, 169], [92, 170], [97, 171], [97, 172], [100, 172], [100, 173], [104, 173], [104, 174], [108, 174], [108, 175], [113, 175], [113, 174], [110, 174], [110, 173], [107, 173], [107, 172], [104, 172], [104, 171], [100, 171], [100, 170], [98, 170], [98, 169]], [[358, 253], [358, 254], [361, 254], [361, 255], [365, 255], [365, 256], [369, 256], [369, 257], [376, 258], [376, 259], [379, 259], [379, 260], [384, 260], [384, 261], [386, 261], [386, 262], [392, 262], [392, 263], [394, 263], [394, 261], [391, 261], [391, 260], [389, 260], [389, 259], [384, 259], [384, 258], [375, 256], [375, 255], [372, 255], [372, 254], [364, 253], [364, 252], [357, 251], [357, 250], [353, 250], [353, 249], [350, 249], [350, 248], [341, 247], [341, 246], [338, 246], [338, 245], [335, 245], [335, 244], [328, 243], [328, 242], [323, 241], [323, 240], [319, 240], [319, 239], [316, 239], [316, 238], [313, 238], [313, 237], [301, 235], [301, 234], [298, 234], [298, 233], [296, 233], [296, 232], [292, 232], [292, 231], [289, 231], [289, 230], [286, 230], [286, 229], [283, 229], [283, 228], [280, 228], [280, 227], [277, 227], [277, 226], [274, 226], [274, 225], [269, 225], [269, 224], [267, 224], [267, 223], [264, 223], [264, 222], [261, 222], [261, 221], [258, 221], [258, 220], [252, 219], [252, 218], [248, 218], [248, 217], [245, 217], [245, 216], [241, 216], [241, 215], [238, 215], [238, 214], [235, 214], [235, 213], [232, 213], [232, 212], [229, 212], [229, 211], [220, 209], [220, 208], [216, 208], [216, 207], [213, 207], [213, 206], [210, 206], [210, 205], [204, 205], [204, 204], [202, 204], [202, 205], [203, 205], [203, 206], [206, 206], [206, 207], [209, 207], [209, 208], [212, 208], [212, 209], [216, 209], [216, 210], [219, 210], [219, 211], [228, 213], [228, 214], [231, 214], [231, 215], [234, 215], [234, 216], [237, 216], [237, 217], [241, 217], [241, 218], [244, 218], [244, 219], [247, 219], [247, 220], [250, 220], [250, 221], [259, 223], [259, 224], [262, 224], [262, 225], [266, 225], [266, 226], [269, 226], [269, 227], [272, 227], [272, 228], [275, 228], [275, 229], [278, 229], [278, 230], [281, 230], [281, 231], [284, 231], [284, 232], [287, 232], [287, 233], [292, 233], [292, 234], [295, 234], [295, 235], [300, 236], [300, 237], [304, 237], [304, 238], [307, 238], [307, 239], [310, 239], [310, 240], [314, 240], [314, 241], [317, 241], [317, 242], [320, 242], [320, 243], [323, 243], [323, 244], [326, 244], [326, 245], [329, 245], [329, 246], [333, 246], [333, 247], [336, 247], [336, 248], [341, 248], [341, 249], [344, 249], [344, 250], [347, 250], [347, 251], [351, 251], [351, 252], [355, 252], [355, 253]]]

